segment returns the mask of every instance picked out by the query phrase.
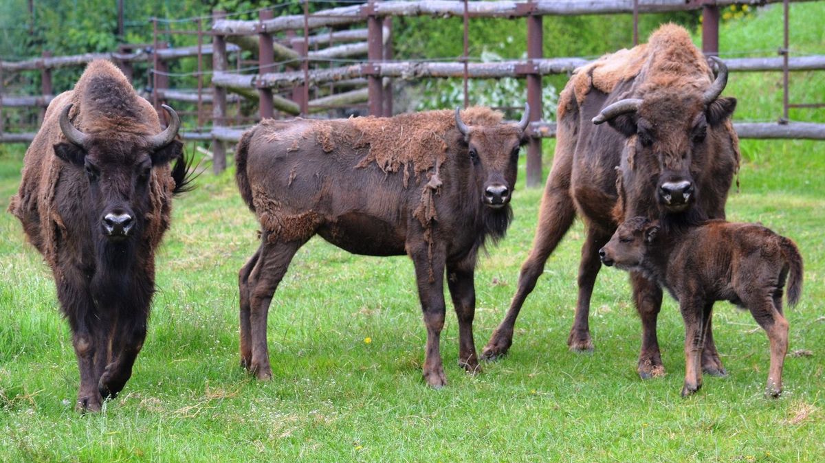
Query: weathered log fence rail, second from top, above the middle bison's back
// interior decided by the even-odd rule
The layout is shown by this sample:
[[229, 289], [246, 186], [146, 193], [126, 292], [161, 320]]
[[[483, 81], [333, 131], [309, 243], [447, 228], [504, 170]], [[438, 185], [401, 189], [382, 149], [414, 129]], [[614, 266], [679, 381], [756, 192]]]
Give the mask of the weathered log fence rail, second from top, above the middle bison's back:
[[[536, 72], [540, 75], [547, 75], [573, 72], [573, 69], [588, 63], [588, 61], [583, 58], [544, 58], [534, 60], [533, 63], [535, 63]], [[469, 77], [473, 78], [513, 77], [518, 75], [516, 67], [523, 64], [526, 64], [526, 62], [469, 63], [467, 70]], [[377, 67], [377, 73], [380, 77], [396, 77], [405, 80], [422, 77], [464, 76], [464, 63], [394, 62], [380, 63]], [[309, 73], [309, 84], [318, 85], [324, 82], [337, 82], [359, 77], [367, 77], [365, 68], [361, 64], [342, 66], [341, 68], [318, 69]], [[288, 87], [304, 82], [304, 72], [271, 72], [257, 76], [215, 72], [212, 76], [212, 82], [223, 87]]]

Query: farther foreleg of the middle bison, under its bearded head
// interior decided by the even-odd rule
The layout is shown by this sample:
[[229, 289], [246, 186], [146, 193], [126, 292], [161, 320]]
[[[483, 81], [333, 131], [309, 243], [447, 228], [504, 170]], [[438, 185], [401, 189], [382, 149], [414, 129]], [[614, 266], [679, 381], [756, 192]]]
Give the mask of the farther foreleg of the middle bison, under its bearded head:
[[475, 255], [460, 264], [447, 264], [447, 287], [450, 288], [455, 315], [459, 320], [459, 366], [472, 374], [481, 372], [473, 341], [474, 267]]

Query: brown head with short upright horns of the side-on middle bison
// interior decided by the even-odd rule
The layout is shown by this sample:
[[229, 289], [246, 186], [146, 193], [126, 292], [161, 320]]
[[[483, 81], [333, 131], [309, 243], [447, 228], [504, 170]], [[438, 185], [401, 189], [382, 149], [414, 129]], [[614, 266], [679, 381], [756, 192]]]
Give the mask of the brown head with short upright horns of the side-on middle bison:
[[507, 208], [516, 186], [518, 155], [526, 143], [530, 106], [517, 124], [494, 126], [464, 124], [459, 108], [455, 108], [455, 127], [466, 144], [471, 177], [481, 192], [485, 208]]

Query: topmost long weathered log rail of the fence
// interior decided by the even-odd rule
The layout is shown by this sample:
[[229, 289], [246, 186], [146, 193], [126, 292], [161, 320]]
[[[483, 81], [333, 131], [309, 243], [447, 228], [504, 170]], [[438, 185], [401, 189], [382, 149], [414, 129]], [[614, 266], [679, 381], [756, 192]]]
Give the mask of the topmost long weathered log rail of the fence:
[[[811, 0], [792, 0], [807, 2]], [[724, 7], [733, 4], [763, 5], [780, 3], [782, 0], [715, 0], [714, 4]], [[469, 16], [472, 17], [521, 17], [538, 15], [585, 15], [633, 12], [632, 0], [538, 0], [532, 2], [532, 10], [526, 2], [495, 1], [468, 2]], [[365, 21], [365, 5], [338, 7], [309, 15], [309, 28], [341, 26]], [[675, 12], [695, 10], [702, 2], [686, 0], [639, 0], [639, 12]], [[464, 2], [460, 0], [418, 0], [375, 2], [376, 16], [463, 16]], [[532, 11], [532, 12], [531, 12]], [[214, 32], [226, 35], [256, 34], [256, 26], [262, 24], [266, 31], [300, 29], [304, 27], [304, 15], [278, 16], [263, 21], [215, 21]]]

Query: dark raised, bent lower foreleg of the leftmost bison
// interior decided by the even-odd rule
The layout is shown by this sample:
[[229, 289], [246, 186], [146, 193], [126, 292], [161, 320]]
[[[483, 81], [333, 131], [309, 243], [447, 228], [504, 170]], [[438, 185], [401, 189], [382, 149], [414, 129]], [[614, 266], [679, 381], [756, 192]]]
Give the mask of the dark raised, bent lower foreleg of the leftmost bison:
[[126, 381], [132, 377], [134, 360], [146, 340], [146, 317], [141, 315], [120, 316], [112, 337], [112, 362], [106, 366], [98, 382], [98, 390], [106, 399], [114, 399]]

